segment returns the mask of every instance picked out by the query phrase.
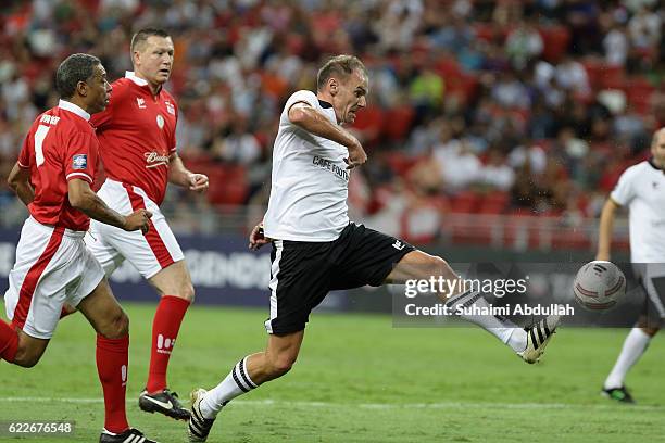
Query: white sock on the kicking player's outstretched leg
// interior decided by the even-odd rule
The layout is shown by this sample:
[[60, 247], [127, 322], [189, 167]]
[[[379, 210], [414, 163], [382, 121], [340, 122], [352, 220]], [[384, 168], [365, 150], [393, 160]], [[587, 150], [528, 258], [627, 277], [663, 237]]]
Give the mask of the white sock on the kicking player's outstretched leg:
[[[477, 292], [465, 292], [462, 295], [453, 296], [448, 303], [451, 308], [455, 309], [459, 305], [466, 307], [477, 306], [479, 308], [488, 308], [489, 303]], [[492, 336], [497, 337], [503, 343], [507, 344], [513, 351], [522, 352], [526, 350], [527, 332], [524, 328], [518, 327], [507, 318], [497, 317], [493, 315], [466, 315], [460, 316], [466, 321], [478, 325]]]

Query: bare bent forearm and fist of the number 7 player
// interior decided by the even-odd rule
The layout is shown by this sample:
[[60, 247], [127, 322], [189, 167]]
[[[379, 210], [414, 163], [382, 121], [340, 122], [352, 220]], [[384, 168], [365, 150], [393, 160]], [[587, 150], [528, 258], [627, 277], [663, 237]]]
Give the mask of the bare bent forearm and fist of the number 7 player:
[[125, 217], [106, 206], [86, 180], [74, 178], [67, 182], [67, 186], [70, 204], [88, 217], [126, 231], [140, 229], [143, 233], [148, 232], [152, 217], [150, 211], [138, 210]]

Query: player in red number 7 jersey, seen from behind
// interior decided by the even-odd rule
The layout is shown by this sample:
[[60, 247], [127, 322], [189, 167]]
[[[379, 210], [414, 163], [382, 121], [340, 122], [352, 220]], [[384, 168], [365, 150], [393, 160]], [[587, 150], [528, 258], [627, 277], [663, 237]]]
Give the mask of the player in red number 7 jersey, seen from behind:
[[57, 83], [60, 103], [33, 123], [8, 179], [30, 216], [4, 294], [12, 326], [0, 320], [0, 357], [35, 366], [63, 305], [76, 306], [98, 332], [97, 368], [105, 408], [100, 442], [149, 443], [129, 428], [125, 415], [129, 320], [83, 238], [90, 217], [118, 229], [147, 231], [150, 212], [122, 216], [90, 189], [98, 141], [88, 121], [105, 107], [111, 92], [99, 59], [68, 56], [58, 68]]

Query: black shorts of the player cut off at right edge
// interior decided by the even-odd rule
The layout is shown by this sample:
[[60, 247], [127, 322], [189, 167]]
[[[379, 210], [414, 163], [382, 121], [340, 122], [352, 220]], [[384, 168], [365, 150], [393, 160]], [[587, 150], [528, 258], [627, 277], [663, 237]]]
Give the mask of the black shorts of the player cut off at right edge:
[[665, 319], [665, 264], [636, 263], [633, 271], [645, 294], [642, 315], [647, 327], [661, 328]]

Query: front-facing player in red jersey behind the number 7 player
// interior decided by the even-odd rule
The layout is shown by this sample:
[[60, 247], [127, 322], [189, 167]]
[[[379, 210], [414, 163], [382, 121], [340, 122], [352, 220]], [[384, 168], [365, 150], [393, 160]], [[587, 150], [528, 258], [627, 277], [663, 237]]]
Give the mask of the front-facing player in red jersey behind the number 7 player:
[[113, 83], [109, 106], [91, 119], [108, 176], [99, 195], [121, 214], [137, 208], [151, 211], [150, 231], [142, 236], [92, 223], [86, 243], [106, 276], [126, 258], [161, 295], [152, 324], [148, 382], [139, 406], [185, 420], [189, 412], [167, 389], [166, 368], [180, 322], [193, 300], [193, 287], [183, 251], [159, 206], [168, 181], [203, 191], [208, 177], [187, 170], [176, 153], [178, 109], [163, 89], [173, 67], [173, 52], [171, 37], [161, 29], [135, 34], [135, 72]]

